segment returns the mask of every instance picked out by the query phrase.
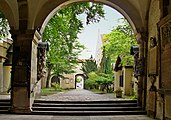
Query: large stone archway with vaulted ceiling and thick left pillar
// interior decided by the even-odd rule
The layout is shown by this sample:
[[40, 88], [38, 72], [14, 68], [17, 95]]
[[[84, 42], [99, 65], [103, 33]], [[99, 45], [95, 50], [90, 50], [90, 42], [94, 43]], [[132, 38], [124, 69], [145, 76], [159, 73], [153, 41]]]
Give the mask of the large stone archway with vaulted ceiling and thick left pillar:
[[[4, 0], [0, 4], [0, 9], [4, 10], [8, 16], [11, 34], [14, 40], [14, 53], [12, 65], [12, 110], [16, 113], [30, 112], [35, 94], [32, 93], [30, 83], [36, 81], [37, 63], [36, 49], [37, 43], [41, 39], [41, 33], [48, 20], [55, 12], [71, 3], [86, 2], [87, 0], [37, 0], [37, 1], [8, 1]], [[144, 60], [144, 45], [146, 44], [146, 14], [149, 2], [134, 0], [96, 0], [118, 10], [127, 18], [131, 24], [137, 41], [140, 44], [140, 59]], [[94, 0], [92, 0], [94, 2]], [[143, 3], [143, 5], [142, 5]], [[8, 7], [3, 8], [2, 5]], [[144, 5], [145, 4], [145, 5]], [[138, 7], [137, 7], [138, 6]], [[140, 9], [142, 7], [142, 9]], [[9, 8], [9, 10], [8, 10]], [[11, 13], [11, 16], [9, 13]], [[13, 11], [13, 12], [12, 12]], [[15, 12], [14, 12], [15, 11]], [[145, 68], [144, 68], [145, 69]], [[140, 100], [142, 97], [143, 76], [140, 76]], [[21, 96], [22, 95], [22, 96]], [[19, 100], [22, 97], [23, 100]], [[140, 101], [141, 104], [142, 101]]]

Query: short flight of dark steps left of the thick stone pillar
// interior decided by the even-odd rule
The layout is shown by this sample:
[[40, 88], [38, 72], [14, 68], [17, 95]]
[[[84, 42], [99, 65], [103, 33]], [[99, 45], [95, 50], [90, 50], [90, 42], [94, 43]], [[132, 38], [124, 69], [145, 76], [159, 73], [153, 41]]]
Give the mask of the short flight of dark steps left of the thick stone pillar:
[[7, 114], [10, 113], [9, 109], [11, 107], [11, 101], [9, 99], [0, 100], [0, 113]]

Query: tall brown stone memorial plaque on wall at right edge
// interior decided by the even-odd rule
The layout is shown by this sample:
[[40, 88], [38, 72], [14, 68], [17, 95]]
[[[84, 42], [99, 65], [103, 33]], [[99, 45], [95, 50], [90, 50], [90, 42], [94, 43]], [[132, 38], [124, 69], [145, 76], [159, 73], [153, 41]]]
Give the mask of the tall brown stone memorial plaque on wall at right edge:
[[159, 23], [161, 41], [161, 83], [162, 88], [171, 87], [171, 15], [163, 18]]

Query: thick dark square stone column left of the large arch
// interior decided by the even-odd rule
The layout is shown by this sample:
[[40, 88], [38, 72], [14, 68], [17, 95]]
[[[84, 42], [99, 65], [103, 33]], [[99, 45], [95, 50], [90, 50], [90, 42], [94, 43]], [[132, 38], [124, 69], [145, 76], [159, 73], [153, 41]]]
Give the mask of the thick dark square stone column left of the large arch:
[[13, 38], [13, 62], [11, 75], [11, 111], [30, 113], [31, 54], [34, 30], [11, 31]]

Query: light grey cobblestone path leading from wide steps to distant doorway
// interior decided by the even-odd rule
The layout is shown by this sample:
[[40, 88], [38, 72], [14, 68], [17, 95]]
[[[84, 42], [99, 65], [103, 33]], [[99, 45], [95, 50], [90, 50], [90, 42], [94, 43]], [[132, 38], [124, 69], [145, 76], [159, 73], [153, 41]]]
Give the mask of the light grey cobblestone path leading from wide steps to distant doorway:
[[114, 94], [97, 94], [85, 89], [74, 89], [67, 92], [60, 92], [53, 95], [41, 96], [41, 99], [48, 101], [94, 101], [94, 100], [111, 100]]

